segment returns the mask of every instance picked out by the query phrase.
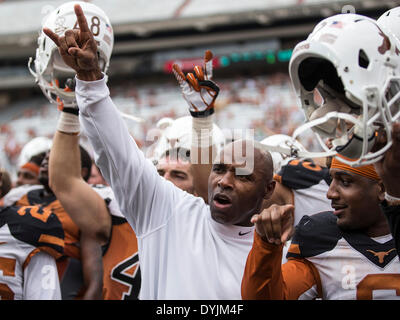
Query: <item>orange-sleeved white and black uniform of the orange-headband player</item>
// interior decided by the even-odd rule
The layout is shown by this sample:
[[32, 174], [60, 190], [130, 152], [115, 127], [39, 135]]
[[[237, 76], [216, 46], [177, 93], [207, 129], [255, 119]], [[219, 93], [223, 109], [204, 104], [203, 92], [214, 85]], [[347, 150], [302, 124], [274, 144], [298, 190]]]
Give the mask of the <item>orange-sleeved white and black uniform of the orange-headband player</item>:
[[243, 299], [399, 299], [400, 262], [391, 234], [345, 232], [332, 212], [304, 216], [281, 265], [282, 246], [255, 233]]

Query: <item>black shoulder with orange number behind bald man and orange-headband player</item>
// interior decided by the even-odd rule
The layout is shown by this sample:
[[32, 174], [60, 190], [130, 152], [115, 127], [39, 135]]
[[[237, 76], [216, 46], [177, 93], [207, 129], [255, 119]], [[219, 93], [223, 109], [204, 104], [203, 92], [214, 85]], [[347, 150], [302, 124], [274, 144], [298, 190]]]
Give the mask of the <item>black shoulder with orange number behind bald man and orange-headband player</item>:
[[280, 182], [290, 189], [306, 189], [322, 180], [329, 185], [329, 169], [315, 164], [312, 160], [294, 159], [284, 165], [278, 173]]

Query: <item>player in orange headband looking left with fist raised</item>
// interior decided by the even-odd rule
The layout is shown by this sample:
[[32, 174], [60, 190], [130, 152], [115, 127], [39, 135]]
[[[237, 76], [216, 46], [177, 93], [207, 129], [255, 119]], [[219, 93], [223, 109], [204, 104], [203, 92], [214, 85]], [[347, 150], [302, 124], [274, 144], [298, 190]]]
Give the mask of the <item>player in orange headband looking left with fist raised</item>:
[[[373, 165], [336, 158], [327, 197], [334, 211], [304, 216], [281, 265], [293, 228], [293, 206], [255, 216], [256, 235], [242, 282], [244, 299], [396, 299], [400, 263], [380, 203], [384, 187]], [[391, 291], [393, 290], [393, 291]]]

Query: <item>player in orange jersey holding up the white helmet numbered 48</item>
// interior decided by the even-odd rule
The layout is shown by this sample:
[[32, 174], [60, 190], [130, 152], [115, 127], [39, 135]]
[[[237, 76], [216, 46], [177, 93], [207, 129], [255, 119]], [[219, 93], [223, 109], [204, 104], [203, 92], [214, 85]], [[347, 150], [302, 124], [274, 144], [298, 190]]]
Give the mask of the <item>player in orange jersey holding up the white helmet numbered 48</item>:
[[[94, 39], [98, 43], [101, 70], [107, 72], [114, 38], [111, 23], [103, 10], [91, 3], [68, 2], [50, 14], [44, 27], [52, 28], [59, 34], [64, 34], [66, 29], [73, 32], [78, 27], [74, 13], [76, 3], [81, 5], [88, 16]], [[63, 21], [62, 26], [59, 21]], [[74, 92], [74, 72], [64, 64], [60, 52], [62, 54], [41, 33], [34, 74], [43, 93], [61, 111], [49, 160], [51, 189], [80, 230], [85, 230], [92, 241], [102, 246], [102, 251], [96, 248], [100, 255], [95, 257], [97, 267], [93, 270], [93, 274], [100, 277], [103, 283], [100, 295], [96, 298], [137, 299], [141, 277], [136, 236], [121, 214], [111, 188], [106, 185], [89, 185], [86, 181], [88, 176], [83, 177], [81, 174], [79, 110]], [[93, 165], [90, 169], [93, 169]], [[98, 213], [97, 219], [86, 219], [92, 217], [91, 214], [85, 214], [90, 210]], [[75, 268], [82, 266], [76, 263]]]

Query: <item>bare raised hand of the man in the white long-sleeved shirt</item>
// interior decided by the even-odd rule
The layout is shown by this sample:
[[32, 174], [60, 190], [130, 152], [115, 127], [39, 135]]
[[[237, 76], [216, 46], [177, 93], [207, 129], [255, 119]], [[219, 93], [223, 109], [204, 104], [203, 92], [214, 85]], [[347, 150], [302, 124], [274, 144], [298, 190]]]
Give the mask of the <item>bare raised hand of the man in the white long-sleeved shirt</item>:
[[[48, 28], [43, 32], [57, 45], [64, 62], [74, 69], [82, 80], [102, 78], [97, 57], [97, 44], [80, 5], [75, 5], [79, 29], [67, 30], [59, 36]], [[94, 79], [94, 78], [96, 79]]]

